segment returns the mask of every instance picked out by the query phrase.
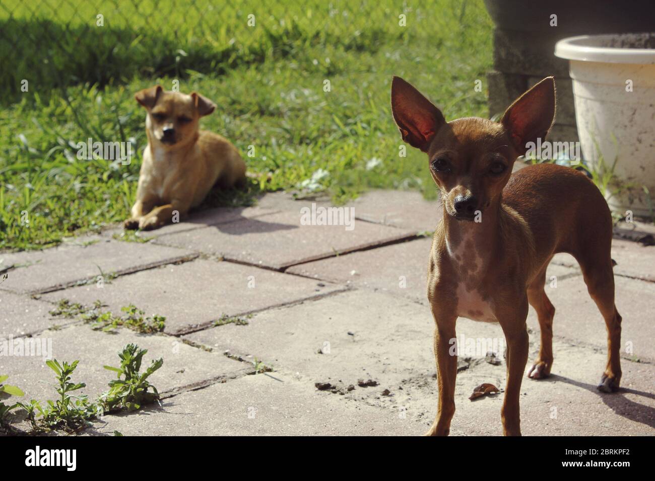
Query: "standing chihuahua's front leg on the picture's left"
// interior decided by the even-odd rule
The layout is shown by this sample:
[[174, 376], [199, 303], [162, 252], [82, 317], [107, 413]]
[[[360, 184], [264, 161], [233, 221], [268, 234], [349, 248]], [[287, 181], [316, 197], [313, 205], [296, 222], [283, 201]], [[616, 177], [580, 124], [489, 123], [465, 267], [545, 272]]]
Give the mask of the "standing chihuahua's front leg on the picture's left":
[[447, 436], [455, 414], [455, 377], [457, 376], [457, 343], [455, 323], [457, 315], [432, 308], [434, 329], [434, 357], [437, 364], [439, 408], [426, 436]]

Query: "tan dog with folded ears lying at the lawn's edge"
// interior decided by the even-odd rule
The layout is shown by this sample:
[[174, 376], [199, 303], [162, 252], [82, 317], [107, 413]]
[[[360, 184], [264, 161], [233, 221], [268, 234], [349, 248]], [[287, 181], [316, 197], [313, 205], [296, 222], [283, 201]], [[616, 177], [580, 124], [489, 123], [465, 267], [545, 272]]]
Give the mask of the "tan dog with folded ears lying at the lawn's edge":
[[147, 110], [136, 202], [126, 229], [155, 229], [185, 215], [218, 185], [230, 188], [246, 178], [246, 164], [236, 147], [220, 135], [199, 130], [198, 119], [216, 105], [196, 92], [141, 90], [136, 101]]

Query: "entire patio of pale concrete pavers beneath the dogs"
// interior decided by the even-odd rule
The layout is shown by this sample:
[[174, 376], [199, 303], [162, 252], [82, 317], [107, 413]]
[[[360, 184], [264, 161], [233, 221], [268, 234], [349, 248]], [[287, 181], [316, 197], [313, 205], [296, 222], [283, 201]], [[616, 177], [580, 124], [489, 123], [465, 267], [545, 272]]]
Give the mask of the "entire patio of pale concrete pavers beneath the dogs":
[[[79, 359], [73, 381], [86, 382], [82, 393], [92, 399], [113, 375], [102, 366], [118, 365], [125, 344], [149, 349], [145, 364], [164, 358], [151, 378], [164, 394], [163, 409], [105, 416], [86, 435], [115, 429], [124, 435], [421, 434], [434, 419], [438, 393], [425, 294], [431, 240], [415, 234], [434, 230], [441, 207], [416, 192], [372, 191], [346, 205], [356, 218], [348, 231], [302, 225], [300, 209], [312, 204], [331, 206], [322, 195], [293, 200], [274, 192], [255, 207], [209, 209], [143, 232], [156, 238], [148, 243], [113, 240], [119, 230], [110, 229], [55, 249], [0, 254], [0, 272], [16, 265], [0, 285], [0, 341], [32, 334], [30, 342], [51, 342], [57, 359]], [[620, 239], [612, 244], [624, 318], [622, 390], [614, 394], [595, 387], [607, 359], [603, 319], [576, 261], [555, 257], [546, 285], [557, 310], [555, 363], [550, 378], [523, 380], [524, 435], [655, 433], [654, 249]], [[120, 275], [96, 284], [100, 270]], [[175, 336], [107, 334], [51, 317], [50, 303], [62, 298], [86, 305], [100, 299], [119, 315], [135, 304], [147, 315], [166, 316], [165, 332]], [[246, 312], [255, 312], [248, 325], [212, 327], [221, 315]], [[529, 368], [539, 347], [532, 308], [528, 326]], [[474, 402], [468, 396], [485, 382], [504, 389], [502, 329], [458, 319], [457, 335], [464, 352], [451, 434], [500, 435], [504, 393]], [[479, 345], [487, 341], [490, 346]], [[500, 365], [485, 362], [488, 348]], [[274, 371], [248, 375], [255, 361]], [[21, 401], [56, 395], [43, 356], [0, 351], [0, 374], [26, 391]]]

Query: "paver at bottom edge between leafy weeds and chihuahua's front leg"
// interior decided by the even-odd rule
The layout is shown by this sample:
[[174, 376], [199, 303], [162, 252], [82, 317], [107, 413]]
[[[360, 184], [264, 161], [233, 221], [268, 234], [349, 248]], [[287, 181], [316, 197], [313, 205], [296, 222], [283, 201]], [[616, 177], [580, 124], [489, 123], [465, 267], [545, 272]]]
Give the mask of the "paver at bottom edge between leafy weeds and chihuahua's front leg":
[[87, 434], [379, 436], [421, 430], [409, 416], [337, 398], [317, 395], [294, 376], [258, 374], [165, 399], [163, 410], [105, 416]]

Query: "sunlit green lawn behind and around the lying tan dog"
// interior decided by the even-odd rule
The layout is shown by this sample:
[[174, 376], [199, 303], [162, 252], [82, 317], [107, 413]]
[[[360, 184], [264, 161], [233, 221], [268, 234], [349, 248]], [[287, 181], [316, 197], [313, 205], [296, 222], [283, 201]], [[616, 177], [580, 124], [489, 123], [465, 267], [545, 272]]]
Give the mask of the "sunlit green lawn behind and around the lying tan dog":
[[[213, 10], [208, 1], [183, 3], [174, 11], [186, 14], [168, 14], [166, 0], [98, 9], [64, 2], [56, 10], [45, 1], [0, 0], [7, 92], [0, 101], [0, 249], [54, 245], [128, 216], [146, 141], [134, 92], [156, 82], [170, 89], [179, 80], [182, 92], [214, 100], [219, 107], [202, 127], [225, 135], [250, 171], [270, 177], [214, 196], [213, 205], [250, 204], [261, 190], [307, 189], [301, 186], [312, 176], [311, 188], [335, 202], [368, 188], [435, 198], [421, 152], [407, 147], [406, 157], [398, 155], [392, 75], [421, 88], [447, 118], [487, 116], [485, 92], [474, 91], [492, 60], [481, 0], [405, 9], [390, 0], [356, 7], [234, 1]], [[95, 26], [98, 13], [104, 27]], [[251, 13], [255, 27], [247, 24]], [[398, 26], [401, 13], [406, 27]], [[28, 92], [20, 92], [22, 79]], [[138, 153], [128, 166], [78, 160], [73, 146], [88, 137], [132, 138]]]

